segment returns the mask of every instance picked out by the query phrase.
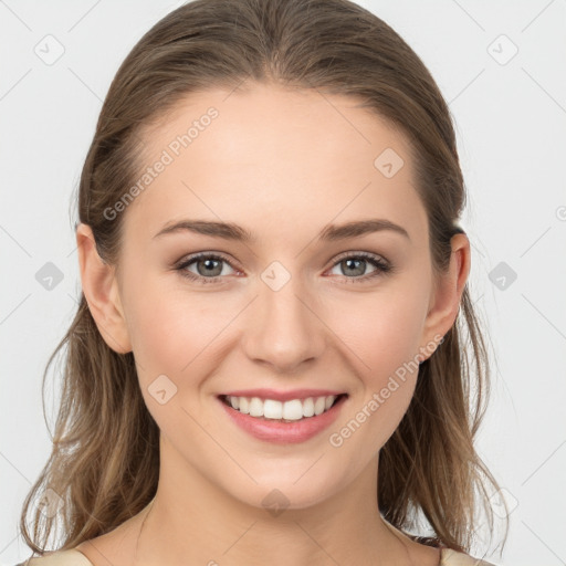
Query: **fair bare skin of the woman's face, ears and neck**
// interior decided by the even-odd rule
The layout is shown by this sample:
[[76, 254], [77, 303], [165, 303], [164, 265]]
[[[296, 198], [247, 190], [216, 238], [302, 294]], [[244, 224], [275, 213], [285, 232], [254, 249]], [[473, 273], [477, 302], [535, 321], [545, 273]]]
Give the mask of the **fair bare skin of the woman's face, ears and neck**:
[[[90, 227], [78, 226], [91, 312], [113, 349], [134, 352], [161, 431], [153, 505], [77, 547], [95, 566], [439, 564], [438, 549], [390, 527], [377, 506], [378, 451], [405, 415], [418, 371], [343, 446], [328, 442], [397, 368], [450, 329], [470, 270], [468, 238], [457, 234], [448, 272], [434, 276], [408, 142], [356, 104], [259, 84], [193, 94], [147, 129], [145, 166], [210, 106], [219, 117], [122, 212], [119, 269], [101, 261]], [[388, 147], [405, 161], [391, 178], [374, 167]], [[316, 241], [329, 223], [368, 218], [400, 224], [410, 240], [380, 231]], [[235, 222], [258, 241], [153, 238], [180, 219]], [[210, 251], [230, 262], [220, 264], [220, 283], [175, 270]], [[395, 271], [360, 282], [376, 268], [368, 262], [359, 275], [340, 262], [363, 251]], [[352, 254], [338, 261], [344, 252]], [[276, 292], [261, 279], [273, 261], [291, 275]], [[186, 270], [207, 276], [198, 266]], [[159, 375], [177, 387], [165, 405], [148, 391]], [[240, 430], [218, 406], [217, 395], [253, 387], [349, 397], [331, 429], [275, 446]], [[262, 505], [273, 489], [289, 501], [277, 516]]]

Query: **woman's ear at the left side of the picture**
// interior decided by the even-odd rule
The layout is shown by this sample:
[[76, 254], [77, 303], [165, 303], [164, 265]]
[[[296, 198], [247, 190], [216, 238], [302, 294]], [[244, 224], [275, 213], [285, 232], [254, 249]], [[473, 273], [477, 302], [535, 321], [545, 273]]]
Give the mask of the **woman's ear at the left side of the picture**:
[[83, 293], [96, 326], [108, 347], [118, 354], [127, 354], [132, 352], [132, 345], [115, 266], [104, 263], [91, 227], [82, 222], [76, 227], [76, 245]]

